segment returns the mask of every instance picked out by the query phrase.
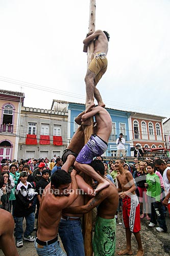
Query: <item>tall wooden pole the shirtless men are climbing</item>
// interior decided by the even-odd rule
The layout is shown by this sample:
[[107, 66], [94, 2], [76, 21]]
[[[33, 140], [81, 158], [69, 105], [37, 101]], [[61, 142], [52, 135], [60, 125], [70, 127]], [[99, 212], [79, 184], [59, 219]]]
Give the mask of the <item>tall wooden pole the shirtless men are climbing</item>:
[[[89, 15], [89, 31], [95, 31], [95, 0], [90, 0], [90, 15]], [[87, 68], [89, 67], [90, 61], [93, 58], [94, 52], [94, 42], [88, 46], [87, 49]], [[87, 96], [86, 96], [87, 97]], [[93, 97], [94, 98], [94, 97]], [[86, 99], [87, 102], [87, 99]], [[85, 143], [89, 140], [91, 134], [93, 134], [93, 118], [91, 117], [91, 125], [86, 126], [84, 131]], [[92, 178], [89, 176], [84, 177], [85, 181], [88, 184], [92, 183]], [[88, 198], [85, 199], [85, 202], [88, 201]], [[83, 237], [84, 237], [84, 250], [86, 256], [92, 256], [92, 212], [88, 212], [83, 217]]]

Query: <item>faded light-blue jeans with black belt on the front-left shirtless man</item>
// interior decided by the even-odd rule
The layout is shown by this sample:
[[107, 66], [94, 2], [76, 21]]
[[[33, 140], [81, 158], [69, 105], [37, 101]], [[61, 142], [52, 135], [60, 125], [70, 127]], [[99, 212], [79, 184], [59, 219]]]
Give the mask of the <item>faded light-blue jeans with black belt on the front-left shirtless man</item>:
[[63, 250], [60, 247], [60, 242], [56, 241], [51, 245], [39, 245], [37, 242], [34, 242], [37, 254], [39, 256], [66, 256]]

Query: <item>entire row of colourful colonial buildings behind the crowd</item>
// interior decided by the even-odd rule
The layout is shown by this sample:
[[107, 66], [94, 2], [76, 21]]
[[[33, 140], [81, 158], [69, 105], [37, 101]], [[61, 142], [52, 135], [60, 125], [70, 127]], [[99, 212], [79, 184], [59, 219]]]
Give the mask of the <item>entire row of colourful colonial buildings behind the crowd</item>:
[[[85, 104], [53, 100], [51, 110], [23, 106], [25, 95], [0, 91], [0, 160], [3, 158], [45, 158], [61, 156], [76, 132], [75, 118]], [[107, 108], [112, 118], [112, 132], [104, 156], [116, 157], [116, 138], [123, 133], [126, 154], [133, 156], [134, 146], [164, 147], [162, 121], [165, 117]], [[169, 146], [169, 119], [164, 122]], [[167, 147], [168, 148], [168, 147]]]

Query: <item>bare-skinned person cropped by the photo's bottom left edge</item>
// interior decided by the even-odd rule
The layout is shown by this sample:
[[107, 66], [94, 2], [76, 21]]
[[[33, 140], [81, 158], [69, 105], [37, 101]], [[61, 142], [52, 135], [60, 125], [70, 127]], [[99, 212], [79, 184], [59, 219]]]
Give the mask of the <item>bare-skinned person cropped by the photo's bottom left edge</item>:
[[[4, 177], [0, 175], [0, 188], [4, 185]], [[1, 202], [0, 193], [0, 202]], [[19, 256], [14, 241], [14, 219], [10, 212], [0, 209], [0, 249], [5, 255]], [[10, 246], [9, 246], [10, 245]]]

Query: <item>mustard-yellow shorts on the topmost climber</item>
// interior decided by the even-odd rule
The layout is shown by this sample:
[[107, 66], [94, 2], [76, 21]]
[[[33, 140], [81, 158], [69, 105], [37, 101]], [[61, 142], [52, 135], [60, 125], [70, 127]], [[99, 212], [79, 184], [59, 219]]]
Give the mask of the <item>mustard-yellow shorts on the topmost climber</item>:
[[91, 60], [89, 70], [95, 74], [94, 82], [95, 86], [105, 74], [107, 70], [107, 57], [104, 52], [97, 52], [94, 54], [94, 58]]

